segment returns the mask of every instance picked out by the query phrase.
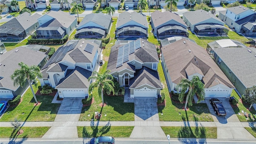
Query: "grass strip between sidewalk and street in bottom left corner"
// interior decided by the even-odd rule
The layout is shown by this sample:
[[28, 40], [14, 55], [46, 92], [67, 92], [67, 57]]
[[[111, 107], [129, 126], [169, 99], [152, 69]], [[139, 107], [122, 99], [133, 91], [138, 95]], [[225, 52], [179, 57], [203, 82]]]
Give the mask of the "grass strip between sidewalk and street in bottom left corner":
[[[42, 138], [50, 127], [22, 127], [22, 134], [12, 127], [0, 127], [0, 138]], [[18, 143], [18, 142], [17, 142]]]

